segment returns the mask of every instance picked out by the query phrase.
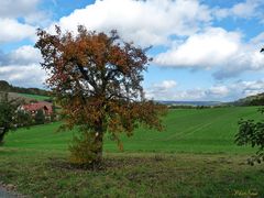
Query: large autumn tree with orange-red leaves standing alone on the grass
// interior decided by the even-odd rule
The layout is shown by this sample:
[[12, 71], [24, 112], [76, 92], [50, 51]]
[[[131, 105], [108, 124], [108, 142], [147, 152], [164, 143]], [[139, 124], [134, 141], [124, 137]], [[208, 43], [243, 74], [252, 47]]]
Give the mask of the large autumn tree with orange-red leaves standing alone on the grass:
[[78, 26], [77, 34], [37, 31], [47, 85], [63, 108], [64, 129], [77, 128], [70, 147], [72, 161], [98, 164], [103, 135], [109, 133], [120, 148], [120, 133], [132, 135], [139, 125], [162, 130], [165, 108], [144, 98], [141, 82], [151, 61], [146, 51], [109, 34]]

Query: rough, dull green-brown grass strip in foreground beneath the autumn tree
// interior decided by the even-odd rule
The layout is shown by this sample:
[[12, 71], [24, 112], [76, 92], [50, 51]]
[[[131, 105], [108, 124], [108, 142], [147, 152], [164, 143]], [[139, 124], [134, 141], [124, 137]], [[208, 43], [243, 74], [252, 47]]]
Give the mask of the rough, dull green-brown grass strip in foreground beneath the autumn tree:
[[32, 197], [263, 197], [264, 165], [243, 155], [106, 154], [100, 170], [67, 153], [0, 150], [0, 178]]

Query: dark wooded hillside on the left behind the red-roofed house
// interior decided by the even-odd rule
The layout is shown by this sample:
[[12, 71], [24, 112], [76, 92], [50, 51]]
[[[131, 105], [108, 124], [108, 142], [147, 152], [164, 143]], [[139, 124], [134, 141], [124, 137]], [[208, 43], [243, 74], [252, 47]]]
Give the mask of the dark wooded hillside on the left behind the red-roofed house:
[[10, 85], [8, 81], [0, 80], [0, 91], [4, 92], [16, 92], [16, 94], [28, 94], [28, 95], [40, 95], [50, 96], [50, 91], [38, 89], [38, 88], [23, 88]]

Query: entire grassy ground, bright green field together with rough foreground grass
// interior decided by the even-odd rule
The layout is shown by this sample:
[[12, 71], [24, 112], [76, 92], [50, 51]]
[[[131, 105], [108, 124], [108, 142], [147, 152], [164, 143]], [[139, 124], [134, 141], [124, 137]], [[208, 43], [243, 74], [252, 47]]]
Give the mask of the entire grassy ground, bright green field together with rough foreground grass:
[[76, 131], [59, 123], [20, 129], [0, 147], [0, 180], [33, 197], [263, 197], [264, 165], [249, 166], [251, 147], [234, 144], [238, 121], [261, 119], [256, 107], [176, 109], [165, 131], [105, 140], [101, 170], [67, 162]]

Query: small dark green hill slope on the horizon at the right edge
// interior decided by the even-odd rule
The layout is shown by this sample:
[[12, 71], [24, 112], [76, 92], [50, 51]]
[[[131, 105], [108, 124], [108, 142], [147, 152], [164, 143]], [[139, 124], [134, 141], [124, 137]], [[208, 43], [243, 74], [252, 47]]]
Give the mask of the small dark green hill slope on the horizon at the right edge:
[[232, 102], [234, 106], [264, 106], [264, 92], [249, 96]]

